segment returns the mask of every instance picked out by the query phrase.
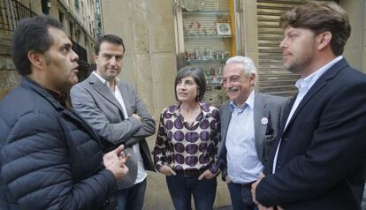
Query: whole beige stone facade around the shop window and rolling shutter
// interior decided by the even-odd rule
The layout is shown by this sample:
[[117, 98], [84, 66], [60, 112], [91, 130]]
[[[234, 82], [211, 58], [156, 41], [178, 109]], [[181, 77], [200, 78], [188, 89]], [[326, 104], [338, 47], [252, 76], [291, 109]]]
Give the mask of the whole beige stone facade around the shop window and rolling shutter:
[[[132, 82], [150, 113], [158, 121], [164, 107], [175, 103], [174, 78], [177, 69], [174, 7], [179, 0], [103, 0], [104, 34], [118, 34], [126, 42], [126, 56], [120, 78]], [[240, 0], [245, 10], [243, 21], [246, 40], [245, 55], [259, 63], [258, 4], [286, 4], [301, 0]], [[356, 69], [366, 72], [366, 3], [364, 0], [337, 1], [348, 12], [352, 35], [347, 41], [344, 56]], [[260, 88], [260, 87], [259, 87]], [[149, 138], [152, 148], [155, 137]], [[215, 207], [230, 205], [226, 185], [217, 177]], [[144, 209], [173, 209], [164, 176], [149, 173]]]

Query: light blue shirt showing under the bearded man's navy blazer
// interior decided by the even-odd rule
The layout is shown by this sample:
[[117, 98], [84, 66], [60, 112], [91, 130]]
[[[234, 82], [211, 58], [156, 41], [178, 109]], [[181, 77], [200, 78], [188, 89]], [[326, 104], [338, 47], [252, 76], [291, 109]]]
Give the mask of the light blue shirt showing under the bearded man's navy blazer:
[[[319, 79], [325, 73], [325, 71], [328, 71], [332, 67], [333, 64], [339, 62], [339, 60], [341, 60], [342, 58], [343, 58], [343, 56], [338, 56], [338, 57], [334, 58], [328, 64], [325, 64], [318, 71], [315, 71], [312, 74], [310, 74], [308, 77], [303, 78], [303, 79], [301, 78], [296, 81], [295, 86], [299, 89], [299, 93], [297, 94], [296, 100], [294, 101], [293, 108], [291, 109], [290, 114], [287, 117], [284, 131], [286, 130], [287, 124], [290, 122], [290, 119], [293, 117], [295, 110], [297, 109], [297, 107], [299, 107], [300, 102], [305, 97], [305, 95], [308, 94], [311, 86], [313, 86], [316, 83], [317, 79]], [[275, 154], [275, 158], [273, 160], [273, 169], [272, 169], [273, 174], [276, 171], [278, 149], [279, 149], [280, 145], [281, 145], [281, 141], [279, 141], [279, 144], [278, 144], [277, 150], [276, 150], [276, 154]]]

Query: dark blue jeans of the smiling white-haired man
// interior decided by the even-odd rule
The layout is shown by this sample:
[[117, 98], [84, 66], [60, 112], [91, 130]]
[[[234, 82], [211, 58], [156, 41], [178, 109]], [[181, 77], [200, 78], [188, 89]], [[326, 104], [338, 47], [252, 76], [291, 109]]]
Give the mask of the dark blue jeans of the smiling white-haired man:
[[251, 184], [242, 186], [241, 184], [227, 184], [232, 199], [233, 210], [255, 210], [258, 209], [252, 199]]

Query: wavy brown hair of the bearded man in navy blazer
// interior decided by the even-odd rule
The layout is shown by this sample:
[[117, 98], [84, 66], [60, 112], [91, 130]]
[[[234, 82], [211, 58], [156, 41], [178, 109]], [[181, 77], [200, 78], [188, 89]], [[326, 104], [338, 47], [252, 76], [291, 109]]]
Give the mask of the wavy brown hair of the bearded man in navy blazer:
[[282, 14], [279, 25], [308, 28], [316, 35], [331, 32], [331, 48], [335, 56], [342, 55], [351, 34], [347, 12], [334, 2], [309, 2], [295, 7]]

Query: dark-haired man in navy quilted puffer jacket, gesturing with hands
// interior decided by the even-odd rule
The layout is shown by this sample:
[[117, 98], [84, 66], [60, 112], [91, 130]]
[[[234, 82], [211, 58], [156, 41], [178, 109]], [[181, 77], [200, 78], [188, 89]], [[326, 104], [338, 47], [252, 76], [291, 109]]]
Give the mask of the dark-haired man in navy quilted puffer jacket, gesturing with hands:
[[0, 102], [0, 208], [101, 208], [126, 176], [123, 146], [102, 156], [95, 132], [65, 101], [79, 57], [61, 23], [22, 20], [12, 55], [21, 80]]

